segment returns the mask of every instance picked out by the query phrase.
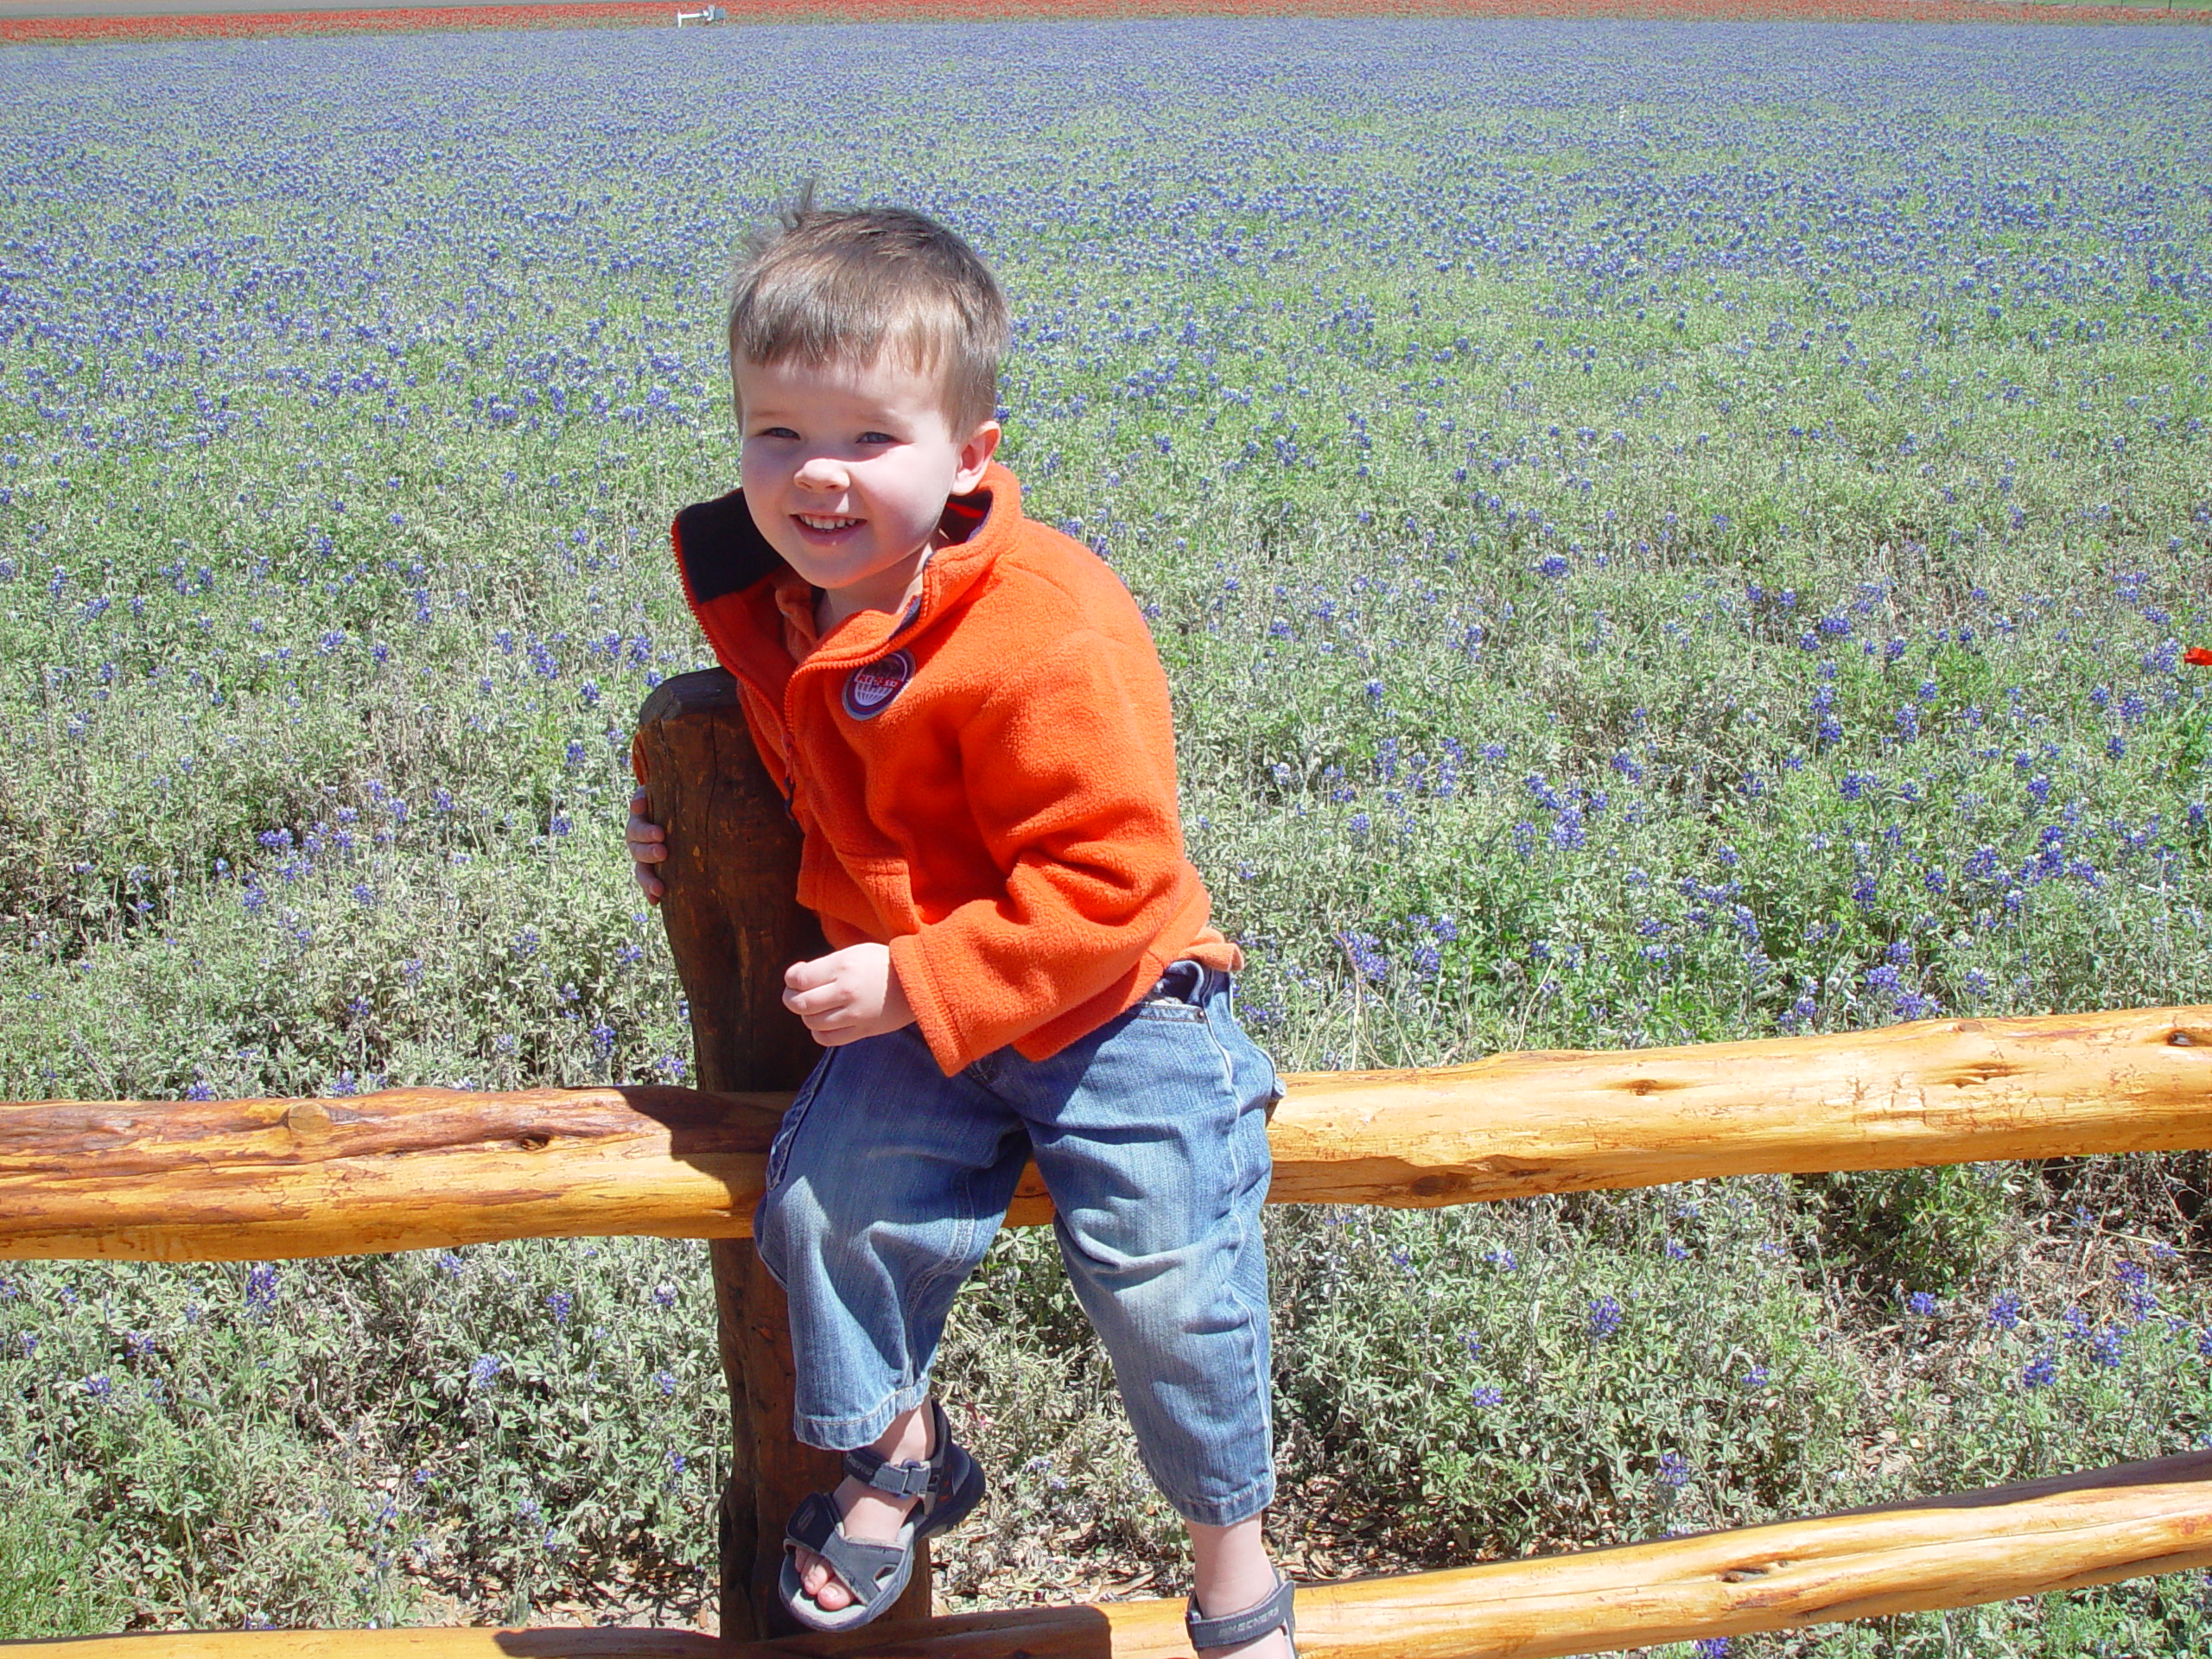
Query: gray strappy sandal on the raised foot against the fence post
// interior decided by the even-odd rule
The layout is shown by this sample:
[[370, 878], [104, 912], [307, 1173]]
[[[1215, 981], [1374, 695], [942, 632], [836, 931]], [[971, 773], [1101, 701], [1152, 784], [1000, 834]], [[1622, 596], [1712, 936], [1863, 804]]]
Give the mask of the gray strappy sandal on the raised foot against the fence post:
[[[880, 1617], [914, 1577], [914, 1544], [947, 1531], [982, 1500], [982, 1469], [975, 1467], [964, 1447], [953, 1442], [951, 1422], [945, 1420], [945, 1407], [936, 1398], [929, 1400], [929, 1411], [931, 1438], [938, 1449], [927, 1462], [914, 1458], [891, 1462], [869, 1447], [845, 1453], [845, 1473], [854, 1480], [891, 1498], [920, 1500], [907, 1511], [894, 1542], [869, 1544], [847, 1537], [834, 1493], [807, 1493], [792, 1511], [792, 1520], [783, 1528], [783, 1571], [776, 1575], [776, 1597], [810, 1630], [856, 1630]], [[830, 1610], [816, 1604], [799, 1582], [794, 1551], [821, 1555], [852, 1590], [852, 1606]]]

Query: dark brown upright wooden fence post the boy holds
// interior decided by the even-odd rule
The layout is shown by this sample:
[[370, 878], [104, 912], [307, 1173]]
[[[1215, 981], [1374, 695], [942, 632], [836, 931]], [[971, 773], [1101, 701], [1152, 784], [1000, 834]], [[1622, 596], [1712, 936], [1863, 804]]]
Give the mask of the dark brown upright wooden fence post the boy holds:
[[[699, 1088], [796, 1088], [821, 1053], [783, 1006], [783, 969], [821, 956], [799, 907], [799, 825], [761, 768], [737, 681], [721, 668], [677, 675], [637, 717], [650, 816], [668, 830], [661, 920], [690, 1002]], [[721, 1495], [721, 1632], [785, 1635], [776, 1601], [783, 1522], [838, 1462], [792, 1438], [792, 1336], [783, 1290], [752, 1239], [719, 1239], [714, 1314], [730, 1383], [730, 1484]], [[889, 1617], [927, 1617], [927, 1546]]]

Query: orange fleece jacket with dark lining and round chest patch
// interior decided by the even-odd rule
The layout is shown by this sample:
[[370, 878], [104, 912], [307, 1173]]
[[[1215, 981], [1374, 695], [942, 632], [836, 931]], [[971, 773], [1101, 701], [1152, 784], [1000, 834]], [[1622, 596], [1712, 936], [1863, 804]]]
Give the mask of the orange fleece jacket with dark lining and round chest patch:
[[1044, 1060], [1177, 958], [1243, 964], [1183, 856], [1168, 677], [1128, 588], [1022, 518], [991, 465], [947, 502], [902, 617], [863, 611], [792, 661], [790, 566], [741, 491], [675, 522], [677, 568], [803, 832], [799, 902], [834, 949], [891, 947], [947, 1075]]

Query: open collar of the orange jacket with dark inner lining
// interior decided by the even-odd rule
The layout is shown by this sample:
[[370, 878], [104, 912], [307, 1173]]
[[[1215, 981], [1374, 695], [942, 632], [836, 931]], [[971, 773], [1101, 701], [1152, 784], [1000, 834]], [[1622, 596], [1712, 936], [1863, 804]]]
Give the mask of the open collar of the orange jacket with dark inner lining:
[[[929, 564], [922, 568], [922, 591], [907, 615], [863, 611], [847, 617], [807, 661], [863, 659], [889, 644], [894, 635], [927, 626], [975, 586], [1000, 553], [1015, 544], [1020, 520], [1022, 487], [1011, 471], [993, 460], [971, 493], [947, 502], [947, 529], [962, 524], [973, 524], [973, 529], [962, 540], [929, 555]], [[714, 599], [757, 588], [776, 571], [790, 568], [761, 535], [761, 526], [752, 522], [752, 509], [745, 507], [741, 489], [677, 513], [675, 551], [684, 595], [695, 613]]]

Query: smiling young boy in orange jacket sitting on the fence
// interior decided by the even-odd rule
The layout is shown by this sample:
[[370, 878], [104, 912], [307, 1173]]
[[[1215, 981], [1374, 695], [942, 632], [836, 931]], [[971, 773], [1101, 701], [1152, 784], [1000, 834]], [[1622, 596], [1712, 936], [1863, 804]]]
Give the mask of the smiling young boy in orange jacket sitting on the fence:
[[[803, 832], [834, 947], [785, 973], [823, 1044], [754, 1217], [790, 1292], [796, 1433], [847, 1480], [783, 1599], [876, 1617], [982, 1475], [929, 1398], [953, 1292], [1022, 1166], [1190, 1526], [1190, 1639], [1292, 1652], [1259, 1210], [1274, 1068], [1183, 856], [1168, 684], [1088, 549], [993, 462], [1006, 301], [942, 226], [801, 206], [730, 303], [743, 487], [677, 515], [684, 588]], [[646, 896], [664, 834], [630, 814]]]

